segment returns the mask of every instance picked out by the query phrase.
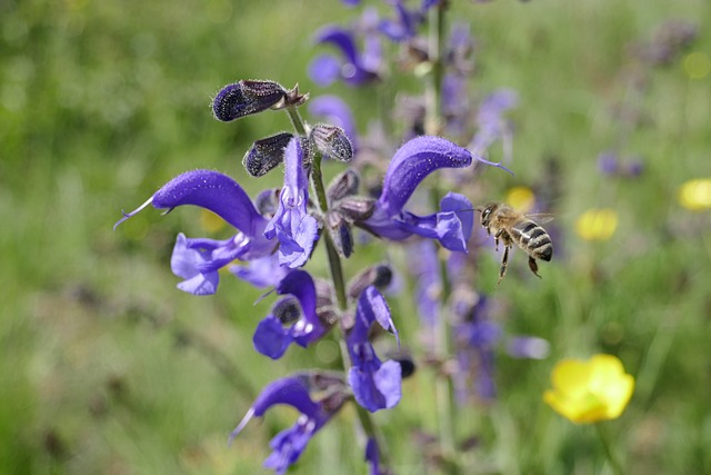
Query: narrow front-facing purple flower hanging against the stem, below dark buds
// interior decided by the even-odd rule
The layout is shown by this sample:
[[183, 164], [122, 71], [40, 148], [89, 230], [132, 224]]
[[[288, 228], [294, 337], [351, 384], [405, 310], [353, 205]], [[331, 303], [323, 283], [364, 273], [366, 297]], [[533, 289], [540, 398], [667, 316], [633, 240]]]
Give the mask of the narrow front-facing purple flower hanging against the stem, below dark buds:
[[277, 214], [264, 228], [267, 239], [279, 239], [279, 263], [290, 268], [306, 264], [319, 238], [319, 225], [307, 211], [309, 178], [303, 167], [299, 139], [291, 139], [284, 150], [284, 187]]

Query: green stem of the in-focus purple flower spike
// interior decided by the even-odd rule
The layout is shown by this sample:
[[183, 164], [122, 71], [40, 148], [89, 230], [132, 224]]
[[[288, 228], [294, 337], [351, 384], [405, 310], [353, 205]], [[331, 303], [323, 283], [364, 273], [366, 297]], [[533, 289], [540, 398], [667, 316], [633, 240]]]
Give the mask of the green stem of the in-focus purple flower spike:
[[[297, 130], [297, 133], [302, 136], [306, 135], [306, 127], [303, 125], [301, 116], [299, 115], [299, 111], [294, 107], [288, 107], [287, 111], [289, 112], [289, 118], [291, 119], [291, 123]], [[317, 196], [319, 210], [321, 211], [321, 215], [326, 215], [326, 211], [328, 211], [328, 199], [326, 196], [326, 187], [323, 186], [323, 174], [321, 172], [322, 158], [322, 155], [319, 152], [316, 152], [313, 156], [313, 161], [311, 164], [311, 186], [313, 187]], [[333, 240], [331, 239], [331, 235], [329, 234], [328, 229], [324, 229], [321, 237], [326, 243], [326, 254], [329, 259], [329, 268], [331, 270], [331, 279], [333, 281], [333, 288], [336, 290], [338, 308], [341, 311], [346, 311], [348, 309], [348, 299], [346, 298], [346, 279], [343, 278], [343, 267], [341, 265], [341, 258], [336, 250], [336, 246], [333, 245]], [[351, 366], [351, 360], [344, 337], [340, 338], [339, 346], [341, 348], [342, 366], [346, 373], [348, 373]], [[373, 438], [378, 444], [381, 467], [387, 468], [389, 466], [388, 452], [385, 451], [385, 445], [383, 443], [382, 436], [379, 434], [377, 425], [373, 423], [372, 417], [367, 409], [361, 407], [359, 404], [354, 404], [354, 406], [356, 413], [358, 415], [358, 420], [361, 428], [363, 429], [363, 433], [368, 438]]]

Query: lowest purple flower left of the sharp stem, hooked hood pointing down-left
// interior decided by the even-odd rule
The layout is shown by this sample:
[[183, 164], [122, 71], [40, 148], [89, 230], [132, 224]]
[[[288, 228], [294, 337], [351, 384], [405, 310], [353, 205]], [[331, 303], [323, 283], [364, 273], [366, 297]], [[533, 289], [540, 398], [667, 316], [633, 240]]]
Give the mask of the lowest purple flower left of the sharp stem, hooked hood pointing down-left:
[[[317, 392], [327, 396], [313, 400], [311, 393]], [[262, 417], [270, 407], [286, 404], [296, 408], [301, 416], [292, 427], [280, 432], [271, 439], [269, 445], [272, 453], [264, 461], [266, 468], [281, 475], [299, 459], [311, 437], [340, 410], [347, 398], [346, 385], [336, 376], [302, 373], [278, 379], [262, 389], [252, 407], [232, 431], [230, 442], [242, 432], [252, 417]]]

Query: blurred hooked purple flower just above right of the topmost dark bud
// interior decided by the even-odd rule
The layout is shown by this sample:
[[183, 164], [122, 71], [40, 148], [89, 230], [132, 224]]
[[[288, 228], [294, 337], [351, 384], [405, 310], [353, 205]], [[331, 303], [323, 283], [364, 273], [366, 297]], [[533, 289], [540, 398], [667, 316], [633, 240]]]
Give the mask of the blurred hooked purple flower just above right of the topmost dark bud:
[[382, 52], [375, 36], [365, 36], [361, 52], [356, 46], [353, 32], [328, 26], [317, 33], [316, 42], [333, 44], [343, 57], [339, 60], [331, 55], [322, 55], [311, 62], [309, 76], [319, 86], [329, 86], [337, 79], [342, 79], [349, 86], [362, 86], [378, 79]]

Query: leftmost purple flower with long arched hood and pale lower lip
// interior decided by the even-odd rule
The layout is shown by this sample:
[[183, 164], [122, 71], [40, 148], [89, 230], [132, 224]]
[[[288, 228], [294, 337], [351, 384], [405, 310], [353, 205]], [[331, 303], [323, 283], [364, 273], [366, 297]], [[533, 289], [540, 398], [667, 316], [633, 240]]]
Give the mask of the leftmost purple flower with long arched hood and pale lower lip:
[[244, 190], [227, 175], [211, 170], [188, 171], [170, 180], [136, 210], [124, 214], [113, 227], [148, 205], [168, 211], [182, 205], [209, 209], [240, 230], [229, 239], [187, 238], [182, 232], [173, 248], [170, 266], [184, 280], [178, 288], [194, 295], [214, 294], [218, 270], [234, 259], [251, 260], [274, 251], [274, 243], [262, 235], [267, 219]]

